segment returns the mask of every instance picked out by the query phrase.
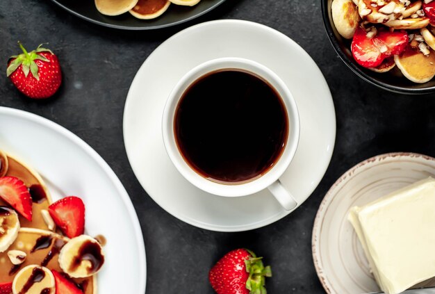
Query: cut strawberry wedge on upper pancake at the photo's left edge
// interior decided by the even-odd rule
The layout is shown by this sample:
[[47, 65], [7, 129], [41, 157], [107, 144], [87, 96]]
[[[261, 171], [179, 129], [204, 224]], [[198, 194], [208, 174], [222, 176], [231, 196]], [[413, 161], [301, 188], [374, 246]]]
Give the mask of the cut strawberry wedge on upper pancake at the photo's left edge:
[[0, 198], [26, 220], [32, 220], [32, 197], [24, 182], [16, 177], [0, 178]]

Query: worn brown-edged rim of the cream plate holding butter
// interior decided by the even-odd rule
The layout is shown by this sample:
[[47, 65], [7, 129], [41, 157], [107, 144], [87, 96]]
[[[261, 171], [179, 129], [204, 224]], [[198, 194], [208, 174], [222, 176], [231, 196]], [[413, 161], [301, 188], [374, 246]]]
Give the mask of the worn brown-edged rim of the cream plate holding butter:
[[435, 163], [435, 158], [414, 152], [389, 152], [385, 154], [379, 154], [377, 156], [372, 156], [364, 161], [361, 161], [360, 163], [357, 163], [352, 168], [344, 172], [331, 186], [331, 188], [329, 188], [325, 197], [322, 199], [322, 202], [320, 203], [319, 209], [314, 219], [313, 234], [311, 238], [311, 253], [313, 256], [315, 272], [318, 275], [320, 283], [328, 294], [335, 292], [331, 291], [331, 289], [333, 289], [334, 287], [332, 286], [331, 281], [328, 279], [327, 275], [325, 275], [325, 272], [323, 271], [324, 266], [322, 263], [322, 257], [320, 256], [320, 233], [322, 231], [322, 220], [325, 218], [325, 214], [327, 212], [329, 204], [331, 204], [332, 200], [336, 195], [336, 190], [340, 188], [343, 183], [348, 181], [349, 178], [352, 177], [354, 174], [359, 174], [360, 172], [363, 172], [368, 168], [378, 165], [383, 161], [393, 161], [397, 157], [409, 158], [410, 160], [415, 160], [415, 158], [419, 158], [421, 160], [432, 161], [433, 163]]

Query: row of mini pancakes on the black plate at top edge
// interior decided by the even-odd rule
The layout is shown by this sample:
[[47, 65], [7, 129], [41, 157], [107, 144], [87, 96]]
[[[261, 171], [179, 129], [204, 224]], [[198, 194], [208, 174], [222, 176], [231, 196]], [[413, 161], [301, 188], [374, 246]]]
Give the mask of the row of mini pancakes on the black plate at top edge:
[[104, 15], [131, 13], [140, 19], [154, 19], [161, 16], [171, 3], [181, 6], [195, 6], [201, 0], [95, 0], [97, 10]]

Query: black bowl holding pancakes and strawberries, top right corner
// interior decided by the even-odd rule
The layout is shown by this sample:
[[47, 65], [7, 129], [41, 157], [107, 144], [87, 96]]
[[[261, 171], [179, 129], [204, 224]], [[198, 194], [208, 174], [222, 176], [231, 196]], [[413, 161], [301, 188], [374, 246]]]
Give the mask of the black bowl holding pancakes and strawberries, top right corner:
[[332, 46], [336, 50], [341, 60], [350, 67], [361, 79], [368, 81], [377, 87], [402, 94], [427, 94], [435, 92], [435, 79], [427, 83], [413, 83], [405, 78], [400, 70], [396, 67], [386, 73], [377, 73], [361, 67], [352, 56], [350, 51], [350, 40], [346, 40], [336, 30], [331, 15], [331, 3], [333, 0], [322, 0], [322, 15], [323, 22], [331, 41]]

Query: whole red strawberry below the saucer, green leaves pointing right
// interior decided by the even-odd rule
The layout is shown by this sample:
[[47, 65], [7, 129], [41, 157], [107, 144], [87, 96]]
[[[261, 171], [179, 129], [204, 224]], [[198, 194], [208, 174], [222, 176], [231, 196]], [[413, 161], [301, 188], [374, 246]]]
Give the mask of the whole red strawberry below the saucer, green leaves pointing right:
[[237, 249], [217, 261], [208, 273], [217, 294], [265, 294], [265, 277], [272, 277], [270, 266], [263, 266], [263, 257], [247, 249]]

